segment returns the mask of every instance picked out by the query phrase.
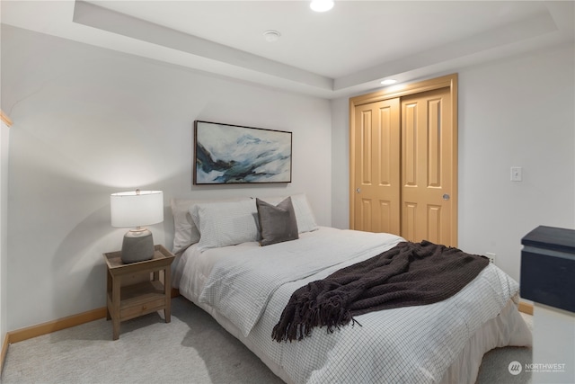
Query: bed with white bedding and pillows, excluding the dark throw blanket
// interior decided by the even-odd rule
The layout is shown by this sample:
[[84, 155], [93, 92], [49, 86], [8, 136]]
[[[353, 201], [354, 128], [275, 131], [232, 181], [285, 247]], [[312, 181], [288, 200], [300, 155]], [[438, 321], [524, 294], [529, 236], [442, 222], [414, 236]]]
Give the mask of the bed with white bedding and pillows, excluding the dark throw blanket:
[[[484, 353], [531, 346], [517, 311], [518, 284], [492, 263], [437, 303], [368, 312], [332, 332], [318, 327], [299, 341], [274, 341], [272, 330], [294, 291], [404, 242], [391, 234], [319, 227], [305, 194], [296, 194], [289, 197], [296, 238], [261, 246], [277, 232], [263, 229], [276, 217], [263, 218], [261, 207], [273, 212], [285, 201], [172, 201], [173, 287], [282, 380], [473, 383]], [[285, 217], [285, 210], [278, 214]]]

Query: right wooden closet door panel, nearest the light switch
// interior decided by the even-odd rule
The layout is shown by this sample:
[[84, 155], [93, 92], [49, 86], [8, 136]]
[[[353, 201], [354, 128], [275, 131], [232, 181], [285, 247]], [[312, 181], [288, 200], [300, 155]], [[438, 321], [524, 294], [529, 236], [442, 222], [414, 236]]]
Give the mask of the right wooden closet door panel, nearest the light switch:
[[401, 234], [410, 241], [452, 245], [451, 107], [449, 88], [402, 98]]

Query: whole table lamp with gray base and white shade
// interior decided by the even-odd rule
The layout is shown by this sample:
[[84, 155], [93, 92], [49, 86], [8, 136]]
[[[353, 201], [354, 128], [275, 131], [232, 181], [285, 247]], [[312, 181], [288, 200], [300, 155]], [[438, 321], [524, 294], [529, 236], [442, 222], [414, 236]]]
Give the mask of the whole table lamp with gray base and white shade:
[[144, 226], [164, 221], [164, 192], [132, 191], [110, 196], [111, 226], [132, 228], [124, 235], [121, 259], [137, 263], [154, 257], [152, 232]]

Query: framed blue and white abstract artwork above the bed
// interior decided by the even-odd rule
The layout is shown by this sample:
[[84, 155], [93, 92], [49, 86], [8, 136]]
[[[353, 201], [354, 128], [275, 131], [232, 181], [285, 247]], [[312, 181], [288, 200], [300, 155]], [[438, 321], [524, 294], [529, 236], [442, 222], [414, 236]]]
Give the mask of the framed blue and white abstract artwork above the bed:
[[291, 132], [194, 121], [194, 184], [291, 183]]

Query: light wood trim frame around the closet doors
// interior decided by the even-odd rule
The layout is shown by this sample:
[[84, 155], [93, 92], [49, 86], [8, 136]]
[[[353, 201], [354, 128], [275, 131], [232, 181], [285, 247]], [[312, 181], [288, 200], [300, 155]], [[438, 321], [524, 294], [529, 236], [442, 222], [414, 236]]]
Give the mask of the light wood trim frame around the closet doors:
[[371, 94], [362, 94], [355, 97], [349, 98], [349, 228], [354, 229], [355, 223], [355, 204], [354, 204], [354, 192], [355, 192], [355, 107], [367, 103], [381, 102], [387, 99], [394, 99], [397, 97], [407, 96], [411, 94], [420, 94], [427, 91], [432, 91], [440, 88], [449, 88], [449, 94], [451, 97], [451, 123], [453, 125], [453, 135], [452, 144], [453, 146], [453, 156], [454, 162], [452, 166], [451, 180], [453, 181], [453, 191], [452, 191], [452, 210], [451, 210], [451, 222], [455, 225], [451, 226], [451, 246], [457, 246], [457, 207], [458, 207], [458, 192], [457, 192], [457, 163], [459, 161], [458, 155], [458, 126], [457, 126], [457, 74], [451, 74], [447, 76], [436, 77], [428, 80], [422, 80], [417, 83], [411, 83], [406, 85], [392, 85], [381, 91], [376, 91]]

